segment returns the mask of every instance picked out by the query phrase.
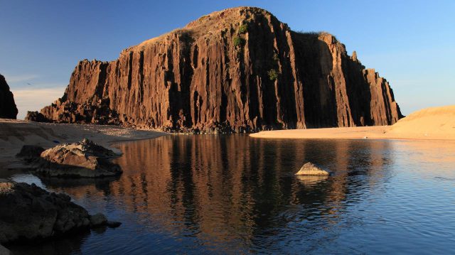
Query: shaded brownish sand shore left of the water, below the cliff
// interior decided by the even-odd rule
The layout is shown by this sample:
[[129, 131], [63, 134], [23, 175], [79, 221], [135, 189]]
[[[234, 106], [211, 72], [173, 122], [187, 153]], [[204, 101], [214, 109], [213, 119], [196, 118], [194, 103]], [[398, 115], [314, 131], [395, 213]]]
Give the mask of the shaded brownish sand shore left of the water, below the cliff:
[[[161, 131], [126, 129], [119, 126], [53, 124], [0, 119], [0, 175], [8, 168], [23, 167], [15, 156], [24, 144], [38, 145], [43, 148], [60, 143], [72, 143], [87, 138], [102, 146], [109, 147], [116, 141], [151, 139], [166, 135]], [[115, 148], [111, 148], [121, 153]]]

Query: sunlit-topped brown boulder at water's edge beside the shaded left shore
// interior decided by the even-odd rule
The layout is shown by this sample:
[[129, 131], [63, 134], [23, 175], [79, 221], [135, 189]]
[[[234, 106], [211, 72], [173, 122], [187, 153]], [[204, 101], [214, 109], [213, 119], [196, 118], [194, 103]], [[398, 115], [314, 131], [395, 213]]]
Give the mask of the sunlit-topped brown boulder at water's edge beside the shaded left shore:
[[50, 177], [99, 178], [122, 173], [118, 164], [109, 161], [113, 151], [84, 139], [80, 143], [64, 143], [41, 153], [36, 173]]

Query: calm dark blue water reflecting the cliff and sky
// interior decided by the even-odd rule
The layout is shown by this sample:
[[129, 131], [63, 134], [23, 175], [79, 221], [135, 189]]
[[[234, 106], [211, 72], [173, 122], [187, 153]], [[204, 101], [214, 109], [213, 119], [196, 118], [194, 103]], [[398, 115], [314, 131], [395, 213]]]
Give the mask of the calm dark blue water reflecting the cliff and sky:
[[[119, 143], [117, 180], [14, 179], [123, 222], [17, 254], [449, 254], [455, 143], [165, 136]], [[330, 178], [297, 178], [306, 161]], [[32, 252], [33, 251], [33, 252]]]

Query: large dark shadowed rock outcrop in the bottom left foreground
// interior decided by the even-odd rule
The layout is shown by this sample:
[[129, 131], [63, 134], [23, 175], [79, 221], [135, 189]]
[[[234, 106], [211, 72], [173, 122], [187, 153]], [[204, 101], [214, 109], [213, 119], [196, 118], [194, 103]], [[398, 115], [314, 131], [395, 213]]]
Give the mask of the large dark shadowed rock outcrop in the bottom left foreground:
[[58, 237], [108, 224], [104, 215], [90, 216], [68, 195], [47, 192], [34, 184], [0, 180], [0, 205], [2, 244]]

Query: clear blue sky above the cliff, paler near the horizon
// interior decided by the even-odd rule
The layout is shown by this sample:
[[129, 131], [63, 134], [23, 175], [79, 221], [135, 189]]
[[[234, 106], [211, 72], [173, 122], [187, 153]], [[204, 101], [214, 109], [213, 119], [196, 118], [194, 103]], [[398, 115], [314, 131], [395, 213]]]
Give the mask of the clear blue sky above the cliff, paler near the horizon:
[[258, 6], [294, 31], [328, 31], [386, 77], [404, 114], [455, 104], [455, 1], [0, 0], [0, 73], [19, 108], [63, 94], [77, 61], [114, 60], [130, 45], [212, 11]]

